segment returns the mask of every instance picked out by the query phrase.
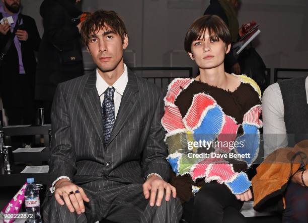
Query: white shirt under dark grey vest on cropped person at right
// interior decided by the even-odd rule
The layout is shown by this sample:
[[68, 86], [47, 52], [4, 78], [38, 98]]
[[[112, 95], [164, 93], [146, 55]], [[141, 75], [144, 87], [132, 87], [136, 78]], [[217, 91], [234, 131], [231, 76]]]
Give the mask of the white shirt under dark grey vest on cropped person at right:
[[[308, 104], [308, 76], [305, 79]], [[262, 96], [264, 157], [288, 145], [284, 123], [284, 105], [278, 83], [268, 86]]]

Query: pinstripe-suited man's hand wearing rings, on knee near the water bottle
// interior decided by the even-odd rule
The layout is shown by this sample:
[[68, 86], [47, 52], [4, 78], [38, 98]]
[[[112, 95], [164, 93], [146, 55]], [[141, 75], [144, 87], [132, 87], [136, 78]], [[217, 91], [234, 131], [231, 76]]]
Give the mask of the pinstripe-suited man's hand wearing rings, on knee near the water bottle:
[[84, 201], [89, 202], [90, 200], [83, 188], [73, 184], [68, 179], [58, 180], [55, 188], [54, 197], [59, 204], [64, 205], [65, 201], [70, 212], [76, 211], [77, 214], [85, 212]]

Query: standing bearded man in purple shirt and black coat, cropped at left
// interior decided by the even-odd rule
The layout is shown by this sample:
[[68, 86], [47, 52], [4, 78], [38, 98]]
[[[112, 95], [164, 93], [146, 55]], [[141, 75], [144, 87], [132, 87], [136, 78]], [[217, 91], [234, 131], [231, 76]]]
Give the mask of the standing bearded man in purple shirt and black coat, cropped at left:
[[[34, 19], [21, 14], [21, 0], [1, 0], [0, 52], [3, 53], [13, 37], [0, 63], [0, 97], [9, 125], [34, 124], [35, 71], [34, 51], [38, 51], [41, 38]], [[7, 18], [7, 19], [5, 19]], [[13, 35], [15, 27], [16, 34]]]

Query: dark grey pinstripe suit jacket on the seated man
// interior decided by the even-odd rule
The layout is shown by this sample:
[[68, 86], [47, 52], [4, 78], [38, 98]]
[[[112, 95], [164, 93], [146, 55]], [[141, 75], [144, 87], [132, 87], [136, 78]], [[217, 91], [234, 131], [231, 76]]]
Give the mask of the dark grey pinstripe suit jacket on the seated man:
[[96, 73], [59, 84], [51, 111], [50, 184], [59, 176], [76, 184], [102, 178], [143, 183], [149, 173], [168, 181], [163, 97], [162, 89], [128, 71], [110, 140], [104, 145]]

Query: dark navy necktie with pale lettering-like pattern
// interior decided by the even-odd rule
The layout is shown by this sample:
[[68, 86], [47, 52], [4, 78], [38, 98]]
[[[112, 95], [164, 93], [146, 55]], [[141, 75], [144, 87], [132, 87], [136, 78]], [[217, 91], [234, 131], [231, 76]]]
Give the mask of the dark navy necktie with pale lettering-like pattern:
[[105, 144], [108, 143], [115, 122], [114, 100], [113, 100], [114, 90], [115, 90], [114, 87], [107, 88], [104, 95], [104, 101], [102, 103]]

